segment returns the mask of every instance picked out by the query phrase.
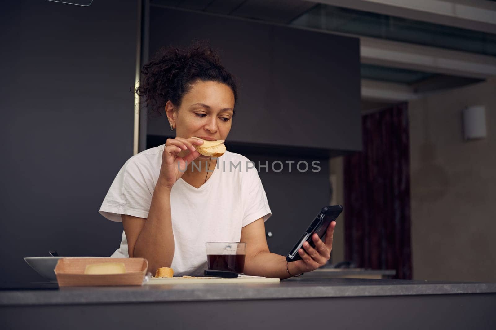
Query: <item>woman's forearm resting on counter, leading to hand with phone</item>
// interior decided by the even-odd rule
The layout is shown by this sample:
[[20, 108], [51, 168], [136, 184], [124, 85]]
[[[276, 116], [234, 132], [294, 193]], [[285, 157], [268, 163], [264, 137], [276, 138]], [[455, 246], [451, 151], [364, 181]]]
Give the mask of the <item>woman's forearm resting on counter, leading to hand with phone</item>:
[[[298, 275], [292, 264], [288, 264], [289, 272], [292, 275]], [[286, 270], [286, 257], [271, 252], [261, 252], [249, 260], [245, 260], [244, 273], [245, 275], [279, 277], [280, 279], [291, 277]]]

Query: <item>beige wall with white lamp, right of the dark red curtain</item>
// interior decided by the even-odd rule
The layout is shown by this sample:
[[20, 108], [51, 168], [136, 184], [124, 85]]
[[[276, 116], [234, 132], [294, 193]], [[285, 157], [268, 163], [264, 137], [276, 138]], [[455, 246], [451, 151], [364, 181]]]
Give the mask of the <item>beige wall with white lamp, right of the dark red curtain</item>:
[[[461, 110], [488, 137], [463, 141]], [[496, 79], [409, 103], [414, 279], [496, 281]]]

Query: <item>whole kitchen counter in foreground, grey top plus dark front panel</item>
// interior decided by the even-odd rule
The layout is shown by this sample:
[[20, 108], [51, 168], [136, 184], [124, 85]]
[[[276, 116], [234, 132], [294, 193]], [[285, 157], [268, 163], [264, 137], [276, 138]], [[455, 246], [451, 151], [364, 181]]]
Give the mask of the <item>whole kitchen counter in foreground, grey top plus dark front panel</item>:
[[29, 327], [30, 320], [41, 321], [37, 329], [141, 329], [164, 320], [170, 329], [301, 329], [308, 322], [336, 329], [495, 329], [495, 303], [496, 283], [298, 277], [266, 284], [2, 290], [0, 318], [8, 329]]

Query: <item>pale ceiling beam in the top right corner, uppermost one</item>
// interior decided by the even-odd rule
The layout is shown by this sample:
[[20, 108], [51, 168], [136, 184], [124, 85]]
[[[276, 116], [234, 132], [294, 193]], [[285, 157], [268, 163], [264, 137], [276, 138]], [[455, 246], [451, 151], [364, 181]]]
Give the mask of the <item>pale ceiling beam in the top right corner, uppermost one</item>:
[[487, 33], [496, 31], [496, 2], [487, 0], [313, 1]]

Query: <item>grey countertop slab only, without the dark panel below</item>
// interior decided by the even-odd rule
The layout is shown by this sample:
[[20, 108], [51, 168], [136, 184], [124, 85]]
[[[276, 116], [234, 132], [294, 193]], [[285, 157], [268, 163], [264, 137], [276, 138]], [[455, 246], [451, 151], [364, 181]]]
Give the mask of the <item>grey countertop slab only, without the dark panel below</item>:
[[496, 283], [365, 278], [291, 278], [280, 283], [164, 284], [2, 290], [0, 305], [112, 304], [202, 300], [295, 299], [496, 293]]

